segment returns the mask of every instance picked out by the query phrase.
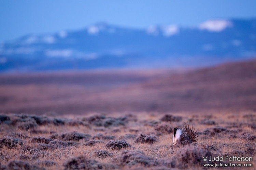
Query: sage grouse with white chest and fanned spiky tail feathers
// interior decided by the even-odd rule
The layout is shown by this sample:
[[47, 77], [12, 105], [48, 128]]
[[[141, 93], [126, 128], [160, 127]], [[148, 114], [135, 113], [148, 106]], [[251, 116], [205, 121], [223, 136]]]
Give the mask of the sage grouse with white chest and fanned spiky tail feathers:
[[193, 142], [197, 142], [197, 137], [198, 137], [198, 133], [197, 131], [195, 132], [195, 128], [193, 129], [193, 125], [192, 128], [190, 126], [190, 123], [186, 124], [186, 122], [184, 122], [183, 125], [184, 128], [184, 134], [182, 134], [182, 130], [181, 128], [174, 128], [174, 134], [173, 134], [173, 138], [172, 138], [172, 142], [174, 145], [176, 144], [181, 144], [181, 145], [189, 145], [190, 143]]

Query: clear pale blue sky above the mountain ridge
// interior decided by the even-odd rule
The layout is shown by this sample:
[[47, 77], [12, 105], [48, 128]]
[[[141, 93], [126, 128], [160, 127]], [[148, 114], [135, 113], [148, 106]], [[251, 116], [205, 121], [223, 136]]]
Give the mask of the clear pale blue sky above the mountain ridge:
[[213, 18], [256, 18], [255, 9], [255, 0], [0, 0], [0, 42], [101, 21], [139, 29], [196, 26]]

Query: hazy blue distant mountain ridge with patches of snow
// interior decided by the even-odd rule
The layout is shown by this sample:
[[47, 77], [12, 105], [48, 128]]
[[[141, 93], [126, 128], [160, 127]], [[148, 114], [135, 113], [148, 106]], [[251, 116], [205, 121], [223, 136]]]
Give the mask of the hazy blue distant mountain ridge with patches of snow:
[[195, 28], [145, 30], [97, 23], [1, 43], [0, 71], [196, 67], [255, 56], [256, 19], [213, 19]]

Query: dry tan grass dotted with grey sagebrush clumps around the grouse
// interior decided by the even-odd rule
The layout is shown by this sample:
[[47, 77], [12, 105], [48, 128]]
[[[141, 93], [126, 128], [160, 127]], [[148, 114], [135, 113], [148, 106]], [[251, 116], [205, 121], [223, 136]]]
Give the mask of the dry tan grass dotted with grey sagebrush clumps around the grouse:
[[[255, 112], [168, 115], [2, 114], [0, 169], [201, 169], [203, 156], [223, 155], [256, 165]], [[184, 121], [196, 126], [198, 142], [177, 147], [172, 129]]]

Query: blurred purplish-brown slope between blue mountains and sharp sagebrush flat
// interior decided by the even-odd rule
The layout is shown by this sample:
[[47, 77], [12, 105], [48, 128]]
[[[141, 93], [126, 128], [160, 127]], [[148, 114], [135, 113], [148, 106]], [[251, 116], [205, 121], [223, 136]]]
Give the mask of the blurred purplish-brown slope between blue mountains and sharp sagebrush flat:
[[256, 110], [256, 60], [188, 71], [0, 75], [0, 112]]

